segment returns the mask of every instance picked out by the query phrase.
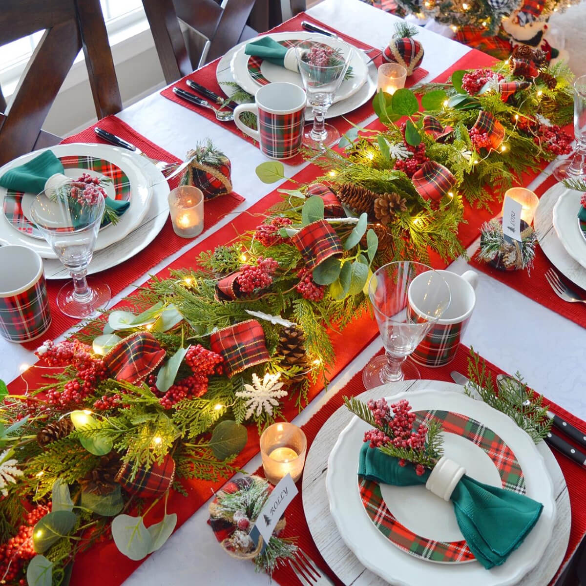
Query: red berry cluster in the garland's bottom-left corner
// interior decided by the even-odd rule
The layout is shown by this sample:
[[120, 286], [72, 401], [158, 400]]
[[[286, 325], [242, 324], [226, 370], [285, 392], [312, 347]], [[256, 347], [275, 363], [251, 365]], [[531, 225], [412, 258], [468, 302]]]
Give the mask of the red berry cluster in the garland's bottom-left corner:
[[39, 505], [25, 517], [18, 533], [0, 546], [0, 577], [2, 584], [26, 584], [26, 580], [16, 581], [25, 561], [36, 556], [33, 548], [33, 529], [35, 524], [47, 515], [49, 506]]

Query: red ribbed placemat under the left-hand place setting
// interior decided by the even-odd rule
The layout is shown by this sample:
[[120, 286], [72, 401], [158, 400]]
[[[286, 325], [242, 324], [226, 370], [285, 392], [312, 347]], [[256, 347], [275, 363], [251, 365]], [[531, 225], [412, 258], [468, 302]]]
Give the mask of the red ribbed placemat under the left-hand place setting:
[[[171, 153], [165, 151], [165, 149], [162, 149], [161, 147], [157, 147], [154, 143], [143, 137], [141, 134], [138, 134], [137, 131], [128, 126], [126, 122], [122, 122], [120, 118], [115, 116], [108, 116], [107, 118], [103, 118], [103, 120], [100, 120], [99, 122], [96, 122], [96, 124], [86, 128], [86, 130], [82, 130], [78, 134], [74, 134], [73, 136], [64, 139], [62, 144], [70, 144], [71, 142], [98, 142], [107, 144], [98, 138], [94, 133], [94, 127], [96, 126], [100, 126], [101, 128], [104, 128], [104, 130], [113, 132], [121, 138], [132, 142], [132, 144], [141, 149], [141, 151], [143, 151], [145, 154], [155, 159], [168, 162], [180, 161], [180, 159], [178, 159], [176, 156], [173, 156]], [[178, 180], [179, 178], [176, 178], [169, 182], [171, 189], [177, 186]], [[210, 227], [214, 226], [214, 224], [219, 222], [219, 220], [221, 220], [224, 216], [226, 216], [227, 213], [231, 212], [243, 201], [244, 197], [241, 197], [237, 193], [233, 192], [229, 195], [216, 197], [216, 199], [212, 199], [209, 202], [206, 202], [204, 206], [205, 212], [203, 230], [209, 230]], [[157, 263], [159, 263], [159, 261], [163, 260], [163, 258], [166, 258], [170, 254], [175, 253], [188, 243], [189, 240], [176, 236], [175, 232], [173, 232], [171, 219], [168, 218], [161, 232], [158, 234], [158, 236], [155, 237], [155, 240], [152, 241], [151, 244], [144, 248], [144, 250], [124, 263], [96, 273], [95, 278], [106, 282], [110, 286], [112, 295], [116, 295], [120, 293], [122, 289], [130, 285], [132, 281], [144, 275], [145, 272], [149, 270], [149, 268], [154, 267]], [[63, 287], [65, 282], [66, 281], [63, 280], [47, 281], [47, 292], [49, 292], [49, 301], [51, 314], [53, 315], [53, 321], [49, 330], [43, 336], [43, 339], [56, 338], [64, 331], [79, 322], [78, 319], [69, 318], [68, 316], [64, 315], [59, 310], [59, 308], [57, 308], [55, 301], [56, 295], [57, 292], [59, 292], [59, 289]], [[33, 350], [39, 346], [39, 342], [38, 340], [34, 340], [33, 342], [23, 344], [23, 346]]]

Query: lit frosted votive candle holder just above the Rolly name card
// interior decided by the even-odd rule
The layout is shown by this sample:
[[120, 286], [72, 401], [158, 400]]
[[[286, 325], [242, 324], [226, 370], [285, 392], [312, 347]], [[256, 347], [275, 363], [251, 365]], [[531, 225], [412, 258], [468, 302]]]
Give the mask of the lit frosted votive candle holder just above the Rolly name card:
[[291, 474], [293, 482], [301, 478], [305, 465], [307, 440], [304, 432], [292, 423], [274, 423], [260, 437], [260, 453], [267, 480], [277, 484]]

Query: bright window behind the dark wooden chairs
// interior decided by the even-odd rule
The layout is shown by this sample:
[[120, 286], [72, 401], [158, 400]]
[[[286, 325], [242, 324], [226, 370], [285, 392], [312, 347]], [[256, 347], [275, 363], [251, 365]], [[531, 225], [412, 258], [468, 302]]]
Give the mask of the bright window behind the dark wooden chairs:
[[[141, 0], [100, 0], [100, 4], [112, 46], [148, 26]], [[26, 63], [42, 36], [43, 31], [39, 30], [0, 47], [0, 87], [5, 97], [11, 96], [16, 89]], [[77, 56], [76, 63], [81, 61], [83, 52]]]

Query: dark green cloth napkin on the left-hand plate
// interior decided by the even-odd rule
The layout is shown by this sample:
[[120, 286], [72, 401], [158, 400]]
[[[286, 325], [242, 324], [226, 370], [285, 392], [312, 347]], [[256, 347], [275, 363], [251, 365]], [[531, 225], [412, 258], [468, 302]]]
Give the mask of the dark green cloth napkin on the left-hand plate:
[[[25, 193], [40, 193], [45, 189], [46, 180], [55, 173], [63, 173], [63, 165], [53, 152], [45, 151], [28, 163], [6, 171], [0, 177], [0, 186]], [[130, 206], [130, 202], [106, 197], [106, 205], [117, 216], [121, 216]]]

